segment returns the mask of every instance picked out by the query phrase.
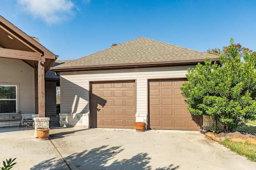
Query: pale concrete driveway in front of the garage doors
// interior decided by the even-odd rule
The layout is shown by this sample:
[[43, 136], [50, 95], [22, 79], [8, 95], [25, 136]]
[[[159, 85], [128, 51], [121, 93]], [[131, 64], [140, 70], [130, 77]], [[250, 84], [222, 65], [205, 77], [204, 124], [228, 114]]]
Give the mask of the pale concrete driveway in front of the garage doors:
[[256, 162], [199, 131], [54, 128], [37, 141], [33, 129], [0, 128], [2, 160], [13, 170], [255, 170]]

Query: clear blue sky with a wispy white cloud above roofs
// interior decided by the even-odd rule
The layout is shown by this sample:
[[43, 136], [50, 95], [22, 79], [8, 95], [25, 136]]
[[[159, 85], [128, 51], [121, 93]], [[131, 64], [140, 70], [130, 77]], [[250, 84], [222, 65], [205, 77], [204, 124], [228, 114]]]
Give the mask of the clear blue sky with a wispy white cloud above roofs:
[[256, 51], [256, 0], [1, 0], [0, 15], [58, 60], [138, 37], [197, 51], [235, 43]]

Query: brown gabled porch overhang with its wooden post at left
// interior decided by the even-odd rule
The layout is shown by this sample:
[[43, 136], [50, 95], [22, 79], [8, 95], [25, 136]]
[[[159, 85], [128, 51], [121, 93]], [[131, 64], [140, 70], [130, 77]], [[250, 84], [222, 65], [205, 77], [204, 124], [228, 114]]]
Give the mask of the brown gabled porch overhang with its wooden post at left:
[[0, 57], [20, 59], [34, 68], [35, 113], [39, 117], [45, 117], [44, 75], [58, 56], [2, 16], [0, 37]]

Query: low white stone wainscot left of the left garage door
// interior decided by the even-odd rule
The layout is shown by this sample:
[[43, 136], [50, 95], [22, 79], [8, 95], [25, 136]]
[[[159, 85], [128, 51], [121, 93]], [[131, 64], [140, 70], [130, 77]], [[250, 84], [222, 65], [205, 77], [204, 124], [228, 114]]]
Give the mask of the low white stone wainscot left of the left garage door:
[[60, 113], [60, 127], [89, 128], [88, 113]]

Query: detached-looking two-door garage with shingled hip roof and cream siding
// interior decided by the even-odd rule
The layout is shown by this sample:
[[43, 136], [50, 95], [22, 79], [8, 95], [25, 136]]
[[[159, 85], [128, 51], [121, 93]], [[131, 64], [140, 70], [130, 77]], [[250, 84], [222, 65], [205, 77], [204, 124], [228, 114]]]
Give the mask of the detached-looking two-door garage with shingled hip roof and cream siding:
[[179, 87], [188, 68], [206, 57], [219, 61], [138, 37], [55, 66], [62, 86], [60, 126], [134, 128], [134, 121], [143, 121], [147, 128], [198, 130], [202, 120], [188, 113]]

